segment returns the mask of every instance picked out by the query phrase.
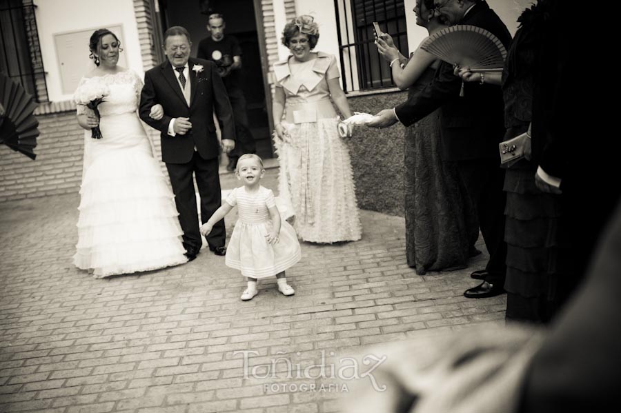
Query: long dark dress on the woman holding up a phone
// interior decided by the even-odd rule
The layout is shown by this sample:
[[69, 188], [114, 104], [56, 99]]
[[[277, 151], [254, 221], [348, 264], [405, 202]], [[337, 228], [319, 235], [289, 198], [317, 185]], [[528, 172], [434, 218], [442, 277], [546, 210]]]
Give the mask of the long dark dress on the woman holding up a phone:
[[[422, 90], [433, 79], [428, 68], [408, 90]], [[426, 271], [465, 268], [479, 236], [473, 203], [454, 162], [442, 161], [440, 111], [406, 130], [404, 186], [406, 256], [410, 267]]]

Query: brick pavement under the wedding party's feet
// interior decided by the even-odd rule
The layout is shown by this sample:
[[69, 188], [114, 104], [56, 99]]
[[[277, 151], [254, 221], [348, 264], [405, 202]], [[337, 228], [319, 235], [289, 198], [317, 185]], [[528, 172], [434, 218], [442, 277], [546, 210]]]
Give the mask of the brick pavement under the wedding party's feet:
[[[268, 170], [264, 185], [276, 188], [276, 175]], [[236, 185], [232, 174], [222, 182]], [[297, 367], [504, 324], [504, 296], [462, 296], [485, 256], [467, 270], [417, 276], [400, 217], [362, 211], [362, 241], [302, 243], [302, 261], [287, 271], [295, 296], [269, 280], [242, 302], [242, 276], [205, 250], [139, 275], [97, 280], [77, 270], [78, 203], [72, 194], [0, 204], [0, 412], [335, 412], [342, 387], [298, 378]], [[228, 234], [234, 222], [231, 213]]]

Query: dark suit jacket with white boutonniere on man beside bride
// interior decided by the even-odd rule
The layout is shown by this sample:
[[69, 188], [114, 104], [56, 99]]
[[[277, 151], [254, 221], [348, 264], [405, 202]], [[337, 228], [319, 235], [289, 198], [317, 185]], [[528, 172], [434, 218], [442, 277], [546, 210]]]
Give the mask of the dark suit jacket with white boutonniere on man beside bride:
[[[198, 74], [192, 70], [197, 64], [204, 68]], [[191, 93], [189, 106], [168, 60], [144, 75], [140, 119], [161, 132], [161, 159], [166, 163], [188, 163], [195, 147], [203, 159], [214, 159], [218, 156], [219, 142], [213, 123], [214, 109], [222, 125], [222, 137], [235, 139], [233, 112], [215, 64], [190, 58], [188, 66]], [[164, 117], [159, 121], [149, 117], [151, 107], [156, 103], [164, 107]], [[168, 124], [170, 119], [178, 117], [190, 118], [192, 129], [185, 135], [171, 137], [168, 134]]]

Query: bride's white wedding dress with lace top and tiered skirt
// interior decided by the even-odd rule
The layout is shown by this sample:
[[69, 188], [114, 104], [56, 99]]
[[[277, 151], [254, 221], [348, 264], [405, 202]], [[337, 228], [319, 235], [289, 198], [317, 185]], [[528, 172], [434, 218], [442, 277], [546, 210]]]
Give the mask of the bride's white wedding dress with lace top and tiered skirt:
[[84, 136], [75, 265], [103, 278], [185, 263], [174, 195], [136, 112], [141, 79], [128, 70], [83, 78], [78, 90], [91, 82], [110, 94], [99, 104], [103, 137]]

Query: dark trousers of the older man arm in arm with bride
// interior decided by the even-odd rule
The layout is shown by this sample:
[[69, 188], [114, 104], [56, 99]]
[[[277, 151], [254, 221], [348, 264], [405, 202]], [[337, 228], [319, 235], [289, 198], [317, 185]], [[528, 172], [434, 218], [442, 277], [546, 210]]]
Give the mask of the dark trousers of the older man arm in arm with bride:
[[[184, 231], [184, 247], [188, 251], [198, 252], [201, 248], [196, 195], [192, 176], [201, 197], [201, 220], [205, 223], [221, 205], [220, 177], [218, 175], [218, 159], [203, 159], [198, 152], [188, 163], [166, 163], [172, 192], [175, 194], [179, 224]], [[213, 226], [207, 236], [211, 248], [224, 247], [226, 230], [224, 219]]]

